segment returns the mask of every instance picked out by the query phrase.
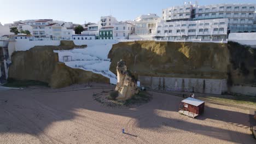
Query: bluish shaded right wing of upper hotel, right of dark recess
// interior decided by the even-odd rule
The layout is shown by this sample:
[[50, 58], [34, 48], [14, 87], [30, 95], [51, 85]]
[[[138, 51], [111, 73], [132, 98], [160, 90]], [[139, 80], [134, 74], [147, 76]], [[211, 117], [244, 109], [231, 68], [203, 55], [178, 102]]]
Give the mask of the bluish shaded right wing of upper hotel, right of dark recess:
[[256, 32], [256, 4], [213, 4], [195, 8], [195, 20], [228, 19], [229, 31]]

